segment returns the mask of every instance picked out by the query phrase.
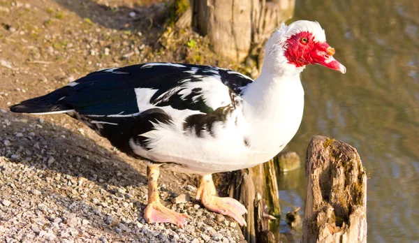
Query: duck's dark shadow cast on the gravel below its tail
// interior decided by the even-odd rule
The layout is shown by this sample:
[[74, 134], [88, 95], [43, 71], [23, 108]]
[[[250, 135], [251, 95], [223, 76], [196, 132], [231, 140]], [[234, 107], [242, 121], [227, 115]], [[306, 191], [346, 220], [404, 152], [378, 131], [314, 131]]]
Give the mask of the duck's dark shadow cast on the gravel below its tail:
[[98, 146], [80, 133], [47, 121], [40, 123], [39, 118], [29, 115], [7, 112], [0, 117], [5, 121], [0, 127], [1, 140], [9, 140], [8, 148], [11, 148], [6, 148], [2, 155], [12, 161], [40, 170], [84, 177], [98, 184], [125, 187], [147, 183], [145, 175], [138, 172], [138, 169], [145, 168], [141, 161], [138, 161], [138, 168], [133, 168], [116, 153]]

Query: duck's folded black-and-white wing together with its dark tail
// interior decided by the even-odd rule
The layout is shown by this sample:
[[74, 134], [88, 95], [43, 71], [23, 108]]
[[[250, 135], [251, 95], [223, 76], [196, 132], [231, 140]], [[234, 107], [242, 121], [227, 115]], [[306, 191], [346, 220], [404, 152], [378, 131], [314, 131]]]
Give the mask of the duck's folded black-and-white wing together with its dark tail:
[[146, 146], [141, 134], [156, 123], [175, 124], [200, 135], [240, 102], [252, 80], [223, 68], [150, 63], [107, 68], [45, 96], [13, 105], [14, 112], [67, 112], [125, 152], [128, 140]]

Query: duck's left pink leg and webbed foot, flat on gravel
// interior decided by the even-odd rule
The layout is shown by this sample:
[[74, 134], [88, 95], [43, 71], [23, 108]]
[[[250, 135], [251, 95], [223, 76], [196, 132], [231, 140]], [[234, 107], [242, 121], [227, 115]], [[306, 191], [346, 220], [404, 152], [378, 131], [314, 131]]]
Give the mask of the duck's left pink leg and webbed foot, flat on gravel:
[[188, 215], [173, 212], [160, 202], [159, 190], [157, 189], [159, 174], [159, 166], [147, 166], [148, 204], [144, 211], [144, 219], [147, 223], [173, 223], [183, 228]]

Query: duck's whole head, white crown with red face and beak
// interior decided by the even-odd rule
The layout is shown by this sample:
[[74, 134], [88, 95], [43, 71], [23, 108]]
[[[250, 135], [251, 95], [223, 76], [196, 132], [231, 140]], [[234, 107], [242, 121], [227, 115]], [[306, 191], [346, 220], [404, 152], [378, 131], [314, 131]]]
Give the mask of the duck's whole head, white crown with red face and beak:
[[265, 46], [264, 68], [274, 73], [300, 73], [307, 64], [320, 64], [346, 72], [333, 58], [335, 49], [326, 43], [325, 31], [318, 22], [295, 21], [272, 34]]

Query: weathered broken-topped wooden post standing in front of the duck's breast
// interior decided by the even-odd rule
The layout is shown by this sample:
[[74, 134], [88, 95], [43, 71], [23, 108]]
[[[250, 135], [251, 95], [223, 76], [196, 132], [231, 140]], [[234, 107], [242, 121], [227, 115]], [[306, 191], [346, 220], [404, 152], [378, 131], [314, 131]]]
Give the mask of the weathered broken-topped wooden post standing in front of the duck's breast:
[[311, 138], [302, 242], [367, 242], [367, 175], [356, 149]]

